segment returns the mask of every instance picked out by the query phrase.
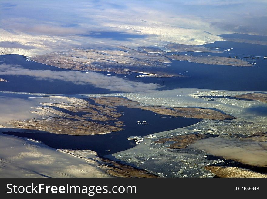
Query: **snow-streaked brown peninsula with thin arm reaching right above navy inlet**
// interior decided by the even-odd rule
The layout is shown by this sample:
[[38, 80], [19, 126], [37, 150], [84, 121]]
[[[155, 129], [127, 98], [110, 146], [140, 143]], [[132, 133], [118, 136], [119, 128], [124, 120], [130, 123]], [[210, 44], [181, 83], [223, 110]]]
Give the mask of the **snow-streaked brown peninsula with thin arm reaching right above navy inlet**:
[[40, 106], [35, 107], [36, 111], [30, 111], [37, 114], [38, 117], [26, 120], [12, 120], [8, 124], [17, 128], [56, 134], [106, 134], [123, 130], [124, 123], [120, 120], [120, 117], [125, 113], [120, 109], [120, 106], [152, 111], [161, 117], [172, 116], [213, 120], [235, 119], [232, 115], [207, 108], [143, 106], [137, 101], [123, 97], [79, 99], [50, 96], [49, 98], [62, 98], [68, 103], [60, 102], [59, 100], [55, 100], [56, 102], [53, 103], [40, 102]]

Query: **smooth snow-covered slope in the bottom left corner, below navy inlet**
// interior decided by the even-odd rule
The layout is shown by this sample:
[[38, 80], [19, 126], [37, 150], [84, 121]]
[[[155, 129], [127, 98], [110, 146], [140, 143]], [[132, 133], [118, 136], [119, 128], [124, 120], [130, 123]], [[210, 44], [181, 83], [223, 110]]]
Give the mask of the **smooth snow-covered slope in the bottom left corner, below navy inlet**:
[[79, 158], [32, 139], [2, 134], [0, 148], [1, 177], [111, 177], [98, 167], [93, 151]]

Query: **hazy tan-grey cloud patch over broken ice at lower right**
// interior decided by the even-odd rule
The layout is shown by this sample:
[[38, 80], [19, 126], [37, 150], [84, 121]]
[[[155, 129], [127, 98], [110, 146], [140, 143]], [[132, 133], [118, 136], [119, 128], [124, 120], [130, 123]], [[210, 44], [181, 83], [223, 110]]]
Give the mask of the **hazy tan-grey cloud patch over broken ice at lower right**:
[[240, 141], [238, 139], [207, 138], [199, 140], [190, 147], [205, 150], [225, 159], [232, 159], [252, 166], [267, 167], [267, 143]]

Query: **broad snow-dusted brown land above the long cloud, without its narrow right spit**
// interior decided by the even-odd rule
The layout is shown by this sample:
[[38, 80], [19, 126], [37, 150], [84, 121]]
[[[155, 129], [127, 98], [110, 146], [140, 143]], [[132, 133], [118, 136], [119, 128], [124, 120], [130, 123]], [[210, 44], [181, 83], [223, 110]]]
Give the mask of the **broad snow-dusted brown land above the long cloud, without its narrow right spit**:
[[171, 63], [171, 60], [166, 56], [134, 50], [125, 46], [101, 51], [75, 48], [69, 51], [37, 55], [32, 60], [59, 68], [82, 71], [108, 71], [119, 74], [139, 72], [153, 74], [151, 76], [155, 77], [182, 76], [178, 73], [165, 72], [164, 68]]

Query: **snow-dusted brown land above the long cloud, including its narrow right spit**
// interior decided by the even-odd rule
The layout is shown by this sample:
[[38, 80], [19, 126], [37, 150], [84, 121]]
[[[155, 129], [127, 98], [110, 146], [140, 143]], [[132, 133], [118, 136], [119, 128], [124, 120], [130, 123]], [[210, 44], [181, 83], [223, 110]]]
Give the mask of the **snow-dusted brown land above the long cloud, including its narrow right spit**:
[[[201, 47], [201, 49], [203, 48]], [[168, 55], [166, 51], [159, 48], [144, 46], [138, 49], [114, 46], [114, 48], [105, 50], [73, 48], [68, 51], [37, 55], [31, 59], [59, 68], [82, 71], [108, 71], [118, 74], [138, 72], [145, 74], [147, 77], [184, 77], [178, 72], [168, 69], [172, 60], [186, 60], [204, 64], [251, 66], [248, 62], [240, 59], [218, 56], [175, 56]]]

